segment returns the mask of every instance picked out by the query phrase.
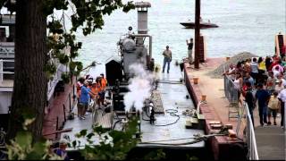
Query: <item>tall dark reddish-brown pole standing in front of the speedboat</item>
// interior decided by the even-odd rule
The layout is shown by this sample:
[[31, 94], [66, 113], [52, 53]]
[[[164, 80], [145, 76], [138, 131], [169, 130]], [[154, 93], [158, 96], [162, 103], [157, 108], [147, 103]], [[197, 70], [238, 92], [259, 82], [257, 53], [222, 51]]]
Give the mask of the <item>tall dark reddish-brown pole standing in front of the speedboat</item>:
[[196, 19], [195, 19], [195, 68], [199, 68], [199, 18], [200, 0], [196, 0]]

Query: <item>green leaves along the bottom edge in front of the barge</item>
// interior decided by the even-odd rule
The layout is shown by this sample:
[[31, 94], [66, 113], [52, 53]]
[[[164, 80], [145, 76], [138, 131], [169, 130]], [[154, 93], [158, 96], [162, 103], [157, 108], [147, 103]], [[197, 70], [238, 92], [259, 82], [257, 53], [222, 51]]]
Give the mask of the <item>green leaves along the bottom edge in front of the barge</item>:
[[[92, 131], [82, 130], [76, 134], [77, 140], [69, 143], [70, 148], [78, 149], [81, 156], [87, 160], [125, 160], [131, 148], [134, 148], [140, 141], [135, 138], [138, 130], [138, 119], [132, 117], [127, 123], [124, 131], [107, 131], [102, 126], [94, 125]], [[23, 131], [18, 132], [14, 140], [6, 145], [5, 153], [10, 160], [62, 160], [51, 149], [52, 142], [38, 140], [32, 143], [32, 134], [27, 131], [27, 126], [35, 121], [34, 118], [26, 119], [23, 123]], [[80, 148], [83, 139], [86, 144]], [[97, 141], [99, 140], [99, 141]], [[158, 160], [165, 157], [162, 150], [153, 151], [145, 157], [147, 160]]]

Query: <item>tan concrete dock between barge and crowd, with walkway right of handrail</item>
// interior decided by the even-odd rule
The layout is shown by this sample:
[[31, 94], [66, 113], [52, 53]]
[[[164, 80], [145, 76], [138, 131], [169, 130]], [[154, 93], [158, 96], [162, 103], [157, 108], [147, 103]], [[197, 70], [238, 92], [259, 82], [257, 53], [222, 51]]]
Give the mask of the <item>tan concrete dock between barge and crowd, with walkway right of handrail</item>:
[[[199, 64], [199, 69], [194, 69], [193, 65], [184, 64], [186, 85], [192, 95], [194, 103], [198, 104], [202, 95], [206, 95], [206, 104], [200, 106], [200, 111], [206, 117], [206, 132], [213, 131], [209, 126], [211, 121], [221, 121], [223, 124], [231, 124], [235, 131], [239, 122], [238, 118], [229, 118], [230, 102], [224, 97], [223, 77], [221, 79], [212, 78], [207, 72], [214, 71], [216, 67], [223, 64], [223, 58], [208, 58], [203, 64]], [[193, 78], [198, 77], [198, 84], [194, 84]], [[241, 106], [240, 106], [241, 110]], [[285, 132], [280, 126], [259, 127], [259, 116], [257, 108], [254, 110], [255, 133], [257, 138], [257, 151], [259, 159], [285, 159]], [[280, 118], [277, 118], [280, 124]], [[234, 145], [242, 146], [245, 138], [243, 130], [246, 123], [240, 124], [238, 138], [231, 140], [227, 136], [214, 137], [210, 140], [214, 150], [214, 159], [238, 159], [231, 156], [231, 148]], [[283, 141], [284, 140], [284, 141]], [[233, 148], [235, 149], [235, 148]]]

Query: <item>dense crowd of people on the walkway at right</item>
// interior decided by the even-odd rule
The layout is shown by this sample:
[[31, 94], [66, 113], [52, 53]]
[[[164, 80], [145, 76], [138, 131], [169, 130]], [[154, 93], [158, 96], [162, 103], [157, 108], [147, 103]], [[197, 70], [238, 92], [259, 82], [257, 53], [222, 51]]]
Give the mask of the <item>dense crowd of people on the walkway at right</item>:
[[[253, 110], [258, 106], [260, 125], [277, 125], [277, 113], [284, 122], [284, 103], [286, 102], [286, 59], [285, 55], [253, 57], [234, 65], [223, 72], [233, 82], [238, 91], [238, 101], [244, 99], [254, 125]], [[242, 98], [243, 97], [243, 98]], [[242, 98], [242, 99], [241, 99]]]

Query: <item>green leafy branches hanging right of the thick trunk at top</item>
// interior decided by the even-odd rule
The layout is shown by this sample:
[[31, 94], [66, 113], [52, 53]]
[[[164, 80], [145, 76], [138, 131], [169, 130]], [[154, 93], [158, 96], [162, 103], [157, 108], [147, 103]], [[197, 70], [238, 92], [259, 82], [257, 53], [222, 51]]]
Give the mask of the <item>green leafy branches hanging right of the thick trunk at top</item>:
[[[52, 16], [52, 21], [48, 21], [47, 28], [49, 35], [47, 38], [47, 47], [50, 49], [50, 57], [57, 58], [61, 64], [69, 64], [71, 75], [79, 75], [82, 70], [82, 64], [79, 61], [74, 61], [79, 55], [81, 42], [76, 41], [75, 32], [80, 28], [82, 34], [87, 36], [95, 30], [102, 29], [105, 24], [103, 16], [110, 15], [114, 10], [122, 8], [123, 12], [129, 12], [135, 6], [132, 2], [122, 4], [122, 0], [46, 0], [43, 12], [46, 16], [53, 15], [55, 10], [67, 11], [72, 10], [70, 30], [63, 29], [63, 24], [60, 20], [55, 20]], [[70, 47], [70, 55], [63, 53], [64, 47]], [[51, 76], [54, 72], [53, 68], [48, 68], [53, 63], [47, 63], [46, 72]], [[53, 66], [53, 65], [52, 65]], [[71, 76], [70, 75], [70, 76]], [[70, 77], [71, 78], [71, 77]]]

